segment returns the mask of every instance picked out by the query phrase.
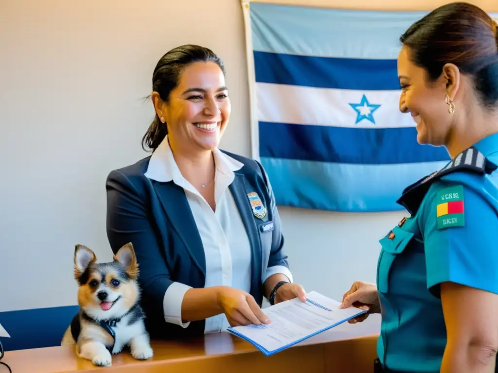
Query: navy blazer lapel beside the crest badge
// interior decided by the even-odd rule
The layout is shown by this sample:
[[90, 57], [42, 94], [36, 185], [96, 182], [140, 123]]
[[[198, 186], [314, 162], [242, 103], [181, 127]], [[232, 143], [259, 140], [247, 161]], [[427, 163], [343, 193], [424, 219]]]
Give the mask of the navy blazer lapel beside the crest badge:
[[[252, 216], [252, 209], [249, 203], [248, 193], [251, 190], [247, 190], [244, 177], [242, 175], [235, 174], [235, 179], [230, 185], [230, 190], [234, 196], [237, 207], [239, 208], [239, 213], [241, 214], [242, 221], [246, 227], [246, 231], [249, 237], [249, 244], [251, 247], [251, 294], [258, 294], [261, 288], [261, 241], [259, 238], [259, 232], [257, 230], [254, 217]], [[257, 301], [257, 299], [256, 299]]]

